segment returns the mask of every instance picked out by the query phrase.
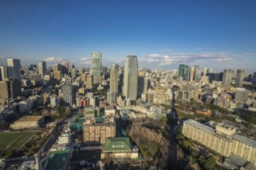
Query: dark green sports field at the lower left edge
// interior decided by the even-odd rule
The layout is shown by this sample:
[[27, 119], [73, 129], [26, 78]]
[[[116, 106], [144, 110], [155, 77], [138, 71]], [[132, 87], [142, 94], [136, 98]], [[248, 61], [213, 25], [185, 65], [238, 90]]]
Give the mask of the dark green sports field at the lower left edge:
[[18, 131], [9, 133], [0, 133], [0, 150], [20, 149], [30, 138], [33, 138], [37, 131]]

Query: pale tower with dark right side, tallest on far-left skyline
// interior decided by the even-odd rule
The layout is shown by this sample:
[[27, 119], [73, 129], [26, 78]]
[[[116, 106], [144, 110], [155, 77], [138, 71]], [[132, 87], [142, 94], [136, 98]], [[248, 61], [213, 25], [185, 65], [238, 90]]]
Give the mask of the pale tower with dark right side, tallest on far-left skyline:
[[21, 80], [20, 72], [20, 60], [19, 59], [7, 59], [8, 76], [17, 80]]

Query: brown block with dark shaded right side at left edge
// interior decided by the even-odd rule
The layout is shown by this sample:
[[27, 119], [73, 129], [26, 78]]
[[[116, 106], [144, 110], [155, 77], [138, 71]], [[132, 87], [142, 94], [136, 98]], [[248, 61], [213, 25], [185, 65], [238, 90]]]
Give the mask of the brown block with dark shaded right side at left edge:
[[1, 100], [15, 99], [21, 96], [22, 83], [20, 80], [9, 79], [0, 81], [0, 103]]

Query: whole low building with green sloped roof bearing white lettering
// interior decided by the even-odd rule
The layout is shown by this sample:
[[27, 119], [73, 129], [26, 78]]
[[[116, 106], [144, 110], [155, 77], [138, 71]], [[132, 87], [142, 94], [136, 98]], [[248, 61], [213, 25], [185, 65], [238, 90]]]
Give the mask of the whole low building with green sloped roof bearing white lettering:
[[102, 158], [131, 158], [137, 159], [139, 151], [136, 146], [131, 145], [130, 138], [106, 138], [102, 149]]

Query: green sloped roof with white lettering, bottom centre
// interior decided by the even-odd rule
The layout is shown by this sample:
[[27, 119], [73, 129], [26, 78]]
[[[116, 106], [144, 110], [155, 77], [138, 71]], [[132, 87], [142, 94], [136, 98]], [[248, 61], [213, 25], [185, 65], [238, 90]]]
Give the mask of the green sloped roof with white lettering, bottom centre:
[[129, 137], [106, 138], [105, 151], [131, 151]]

